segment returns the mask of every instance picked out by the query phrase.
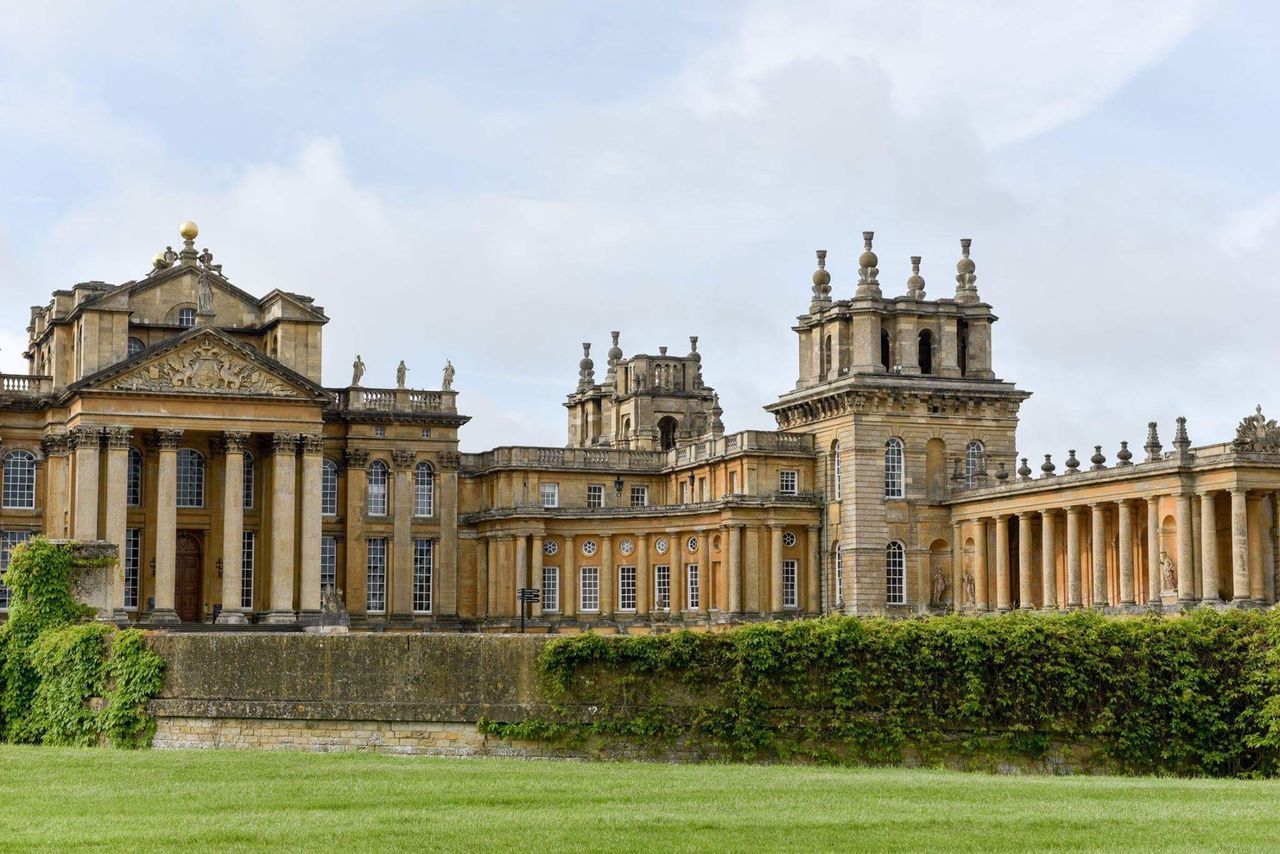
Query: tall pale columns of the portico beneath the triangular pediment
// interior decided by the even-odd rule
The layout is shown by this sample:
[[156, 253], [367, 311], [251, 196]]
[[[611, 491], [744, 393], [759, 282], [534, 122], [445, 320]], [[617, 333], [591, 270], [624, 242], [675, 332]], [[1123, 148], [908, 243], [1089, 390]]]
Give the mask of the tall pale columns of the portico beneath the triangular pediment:
[[[145, 616], [151, 622], [178, 622], [175, 604], [178, 538], [178, 451], [184, 431], [174, 428], [154, 433], [157, 455], [155, 507], [155, 607]], [[215, 452], [223, 460], [220, 502], [209, 494], [205, 478], [205, 506], [221, 508], [221, 543], [214, 544], [221, 557], [221, 612], [219, 622], [246, 622], [241, 607], [241, 567], [244, 549], [244, 452], [250, 434], [221, 431], [214, 435]], [[73, 456], [74, 494], [72, 535], [76, 539], [104, 539], [114, 543], [122, 560], [111, 580], [111, 608], [116, 618], [124, 612], [124, 568], [128, 453], [131, 428], [86, 426], [72, 430], [68, 448]], [[270, 434], [271, 497], [270, 516], [264, 520], [270, 542], [269, 613], [265, 622], [293, 622], [294, 600], [303, 612], [320, 609], [320, 480], [324, 440], [319, 434], [276, 431]], [[100, 465], [105, 444], [105, 471]], [[301, 479], [298, 456], [301, 453]], [[206, 467], [207, 472], [207, 467]], [[105, 476], [105, 479], [104, 479]], [[99, 497], [105, 501], [99, 512]], [[298, 498], [297, 495], [301, 495]], [[301, 512], [300, 512], [301, 510]], [[301, 598], [294, 588], [294, 558], [302, 567]]]

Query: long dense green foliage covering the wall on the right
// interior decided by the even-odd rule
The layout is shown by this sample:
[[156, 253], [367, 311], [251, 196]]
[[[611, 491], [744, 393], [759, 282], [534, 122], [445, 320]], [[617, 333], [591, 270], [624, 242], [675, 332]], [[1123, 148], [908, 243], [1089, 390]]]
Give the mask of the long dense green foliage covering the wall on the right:
[[1041, 757], [1088, 741], [1116, 769], [1274, 775], [1280, 615], [829, 617], [721, 634], [576, 635], [539, 668], [548, 714], [503, 737], [616, 736], [746, 761]]

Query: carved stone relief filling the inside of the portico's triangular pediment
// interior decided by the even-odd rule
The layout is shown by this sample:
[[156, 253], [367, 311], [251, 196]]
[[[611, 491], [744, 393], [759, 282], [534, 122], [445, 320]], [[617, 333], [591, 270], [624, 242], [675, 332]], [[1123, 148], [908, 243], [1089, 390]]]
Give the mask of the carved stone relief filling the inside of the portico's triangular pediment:
[[115, 378], [110, 388], [123, 392], [196, 392], [298, 397], [298, 388], [283, 382], [216, 341], [192, 342], [175, 352], [138, 365]]

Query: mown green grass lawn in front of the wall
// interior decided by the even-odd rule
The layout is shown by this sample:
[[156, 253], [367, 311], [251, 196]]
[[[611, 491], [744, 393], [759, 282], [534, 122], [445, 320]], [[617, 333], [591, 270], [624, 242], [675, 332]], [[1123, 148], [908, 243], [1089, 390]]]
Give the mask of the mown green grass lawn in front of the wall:
[[0, 848], [1244, 850], [1280, 781], [0, 746]]

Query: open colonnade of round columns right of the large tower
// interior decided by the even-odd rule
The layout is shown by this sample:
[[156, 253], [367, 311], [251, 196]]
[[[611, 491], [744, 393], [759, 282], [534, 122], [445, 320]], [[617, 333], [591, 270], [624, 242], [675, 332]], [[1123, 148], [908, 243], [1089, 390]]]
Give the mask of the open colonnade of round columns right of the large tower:
[[[1271, 512], [1263, 513], [1268, 497]], [[1220, 498], [1230, 506], [1228, 567], [1219, 545]], [[952, 526], [950, 584], [961, 608], [1188, 607], [1228, 595], [1240, 606], [1276, 600], [1280, 493], [1230, 488], [1065, 502], [960, 517]]]

